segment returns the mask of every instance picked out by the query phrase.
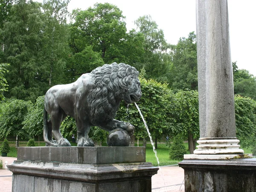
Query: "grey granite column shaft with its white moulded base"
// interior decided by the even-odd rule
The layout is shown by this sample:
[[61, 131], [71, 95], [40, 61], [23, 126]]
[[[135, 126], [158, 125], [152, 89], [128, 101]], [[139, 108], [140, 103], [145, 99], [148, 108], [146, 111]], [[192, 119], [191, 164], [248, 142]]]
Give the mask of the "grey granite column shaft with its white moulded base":
[[197, 0], [200, 139], [194, 154], [243, 154], [236, 138], [227, 0]]

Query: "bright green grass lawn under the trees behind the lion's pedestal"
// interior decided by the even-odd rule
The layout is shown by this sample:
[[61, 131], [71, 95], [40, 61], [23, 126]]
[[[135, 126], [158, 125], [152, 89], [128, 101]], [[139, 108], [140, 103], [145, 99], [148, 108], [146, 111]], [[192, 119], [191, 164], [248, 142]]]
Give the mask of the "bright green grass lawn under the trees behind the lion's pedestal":
[[[2, 142], [0, 142], [1, 145]], [[24, 147], [26, 146], [27, 142], [20, 142], [19, 146]], [[35, 143], [36, 146], [38, 146], [38, 142]], [[15, 142], [9, 142], [10, 149], [11, 151], [7, 154], [8, 157], [17, 157], [17, 150], [15, 148]], [[71, 143], [72, 146], [76, 146], [76, 143]], [[188, 143], [184, 143], [186, 149], [187, 149], [187, 154], [189, 154], [189, 146]], [[40, 142], [39, 146], [45, 146], [44, 142]], [[102, 146], [106, 146], [106, 143], [103, 143]], [[137, 144], [135, 144], [137, 146]], [[139, 144], [139, 146], [142, 146], [142, 143]], [[251, 153], [251, 150], [249, 148], [243, 148], [244, 153]], [[157, 144], [157, 157], [160, 162], [160, 166], [166, 166], [166, 165], [174, 165], [180, 162], [181, 160], [172, 160], [169, 159], [169, 147], [166, 146], [165, 143], [158, 143]], [[151, 143], [147, 143], [146, 146], [146, 162], [151, 162], [154, 166], [158, 166], [157, 163], [157, 158], [155, 157], [153, 147]]]

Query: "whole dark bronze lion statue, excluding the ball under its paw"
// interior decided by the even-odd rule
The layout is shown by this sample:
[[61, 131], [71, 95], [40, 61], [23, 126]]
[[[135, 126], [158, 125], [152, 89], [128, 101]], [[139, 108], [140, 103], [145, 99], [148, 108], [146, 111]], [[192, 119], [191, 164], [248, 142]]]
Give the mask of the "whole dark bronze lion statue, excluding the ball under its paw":
[[83, 74], [71, 84], [51, 87], [44, 99], [46, 145], [71, 146], [60, 133], [61, 122], [68, 115], [76, 120], [77, 146], [94, 146], [88, 137], [91, 126], [99, 126], [106, 131], [121, 128], [133, 135], [133, 125], [114, 117], [122, 100], [128, 104], [140, 100], [142, 93], [138, 75], [139, 72], [128, 64], [112, 63]]

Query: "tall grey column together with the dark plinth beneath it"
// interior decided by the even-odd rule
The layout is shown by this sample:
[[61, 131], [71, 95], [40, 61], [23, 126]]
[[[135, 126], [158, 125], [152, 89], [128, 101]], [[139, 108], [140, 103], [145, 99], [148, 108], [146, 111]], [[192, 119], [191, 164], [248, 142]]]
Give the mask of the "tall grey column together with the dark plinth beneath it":
[[185, 191], [256, 192], [256, 159], [236, 138], [227, 0], [196, 2], [201, 138], [179, 163]]

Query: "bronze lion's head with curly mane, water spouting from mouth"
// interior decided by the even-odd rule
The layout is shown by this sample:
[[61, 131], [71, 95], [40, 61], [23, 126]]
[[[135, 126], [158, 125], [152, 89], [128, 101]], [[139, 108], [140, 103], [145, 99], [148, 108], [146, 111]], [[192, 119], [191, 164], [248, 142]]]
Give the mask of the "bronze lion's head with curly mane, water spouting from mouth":
[[139, 72], [128, 64], [105, 64], [90, 75], [93, 86], [88, 101], [92, 119], [113, 119], [121, 100], [130, 104], [141, 98]]

